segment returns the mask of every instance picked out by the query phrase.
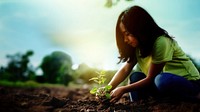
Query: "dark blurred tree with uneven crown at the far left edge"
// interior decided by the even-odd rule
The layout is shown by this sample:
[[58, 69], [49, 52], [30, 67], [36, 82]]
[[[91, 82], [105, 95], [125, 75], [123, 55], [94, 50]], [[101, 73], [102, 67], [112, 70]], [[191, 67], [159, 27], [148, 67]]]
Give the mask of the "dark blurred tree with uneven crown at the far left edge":
[[7, 55], [9, 59], [7, 67], [1, 67], [0, 78], [9, 81], [25, 81], [34, 79], [35, 72], [30, 64], [30, 56], [34, 54], [29, 50], [25, 54], [16, 53]]

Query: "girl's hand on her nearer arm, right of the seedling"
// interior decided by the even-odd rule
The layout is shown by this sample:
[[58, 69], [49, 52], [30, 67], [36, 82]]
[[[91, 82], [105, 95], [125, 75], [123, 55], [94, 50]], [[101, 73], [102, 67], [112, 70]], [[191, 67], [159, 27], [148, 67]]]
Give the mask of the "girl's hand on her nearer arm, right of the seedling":
[[117, 87], [116, 89], [112, 90], [111, 95], [111, 103], [116, 103], [124, 94], [124, 87]]

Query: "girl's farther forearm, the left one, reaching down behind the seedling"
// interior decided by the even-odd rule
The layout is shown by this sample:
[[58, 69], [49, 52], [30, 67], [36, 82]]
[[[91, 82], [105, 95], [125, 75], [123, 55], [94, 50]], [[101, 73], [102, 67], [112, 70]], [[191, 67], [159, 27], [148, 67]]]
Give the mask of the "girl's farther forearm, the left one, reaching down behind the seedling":
[[134, 65], [135, 63], [133, 62], [130, 63], [126, 62], [126, 64], [117, 71], [117, 73], [114, 75], [114, 77], [108, 84], [112, 86], [112, 90], [115, 89], [122, 81], [126, 79], [126, 77], [132, 71]]

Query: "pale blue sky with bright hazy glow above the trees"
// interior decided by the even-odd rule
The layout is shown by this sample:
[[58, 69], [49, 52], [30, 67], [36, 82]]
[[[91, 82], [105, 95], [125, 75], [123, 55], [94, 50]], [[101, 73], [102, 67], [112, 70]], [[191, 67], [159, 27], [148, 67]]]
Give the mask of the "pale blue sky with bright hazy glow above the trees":
[[[113, 0], [115, 1], [115, 0]], [[175, 37], [182, 49], [200, 59], [199, 0], [120, 0], [106, 8], [106, 0], [0, 0], [0, 66], [7, 54], [26, 53], [38, 66], [43, 57], [62, 51], [74, 65], [117, 69], [115, 25], [126, 8], [139, 5]]]

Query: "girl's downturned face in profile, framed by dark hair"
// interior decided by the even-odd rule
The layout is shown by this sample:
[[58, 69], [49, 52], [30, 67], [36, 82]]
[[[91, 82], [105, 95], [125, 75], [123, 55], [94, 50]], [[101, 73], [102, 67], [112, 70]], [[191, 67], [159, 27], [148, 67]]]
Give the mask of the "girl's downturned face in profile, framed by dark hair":
[[119, 27], [124, 36], [124, 42], [131, 45], [132, 47], [137, 47], [138, 40], [126, 30], [126, 28], [122, 22], [120, 22]]

